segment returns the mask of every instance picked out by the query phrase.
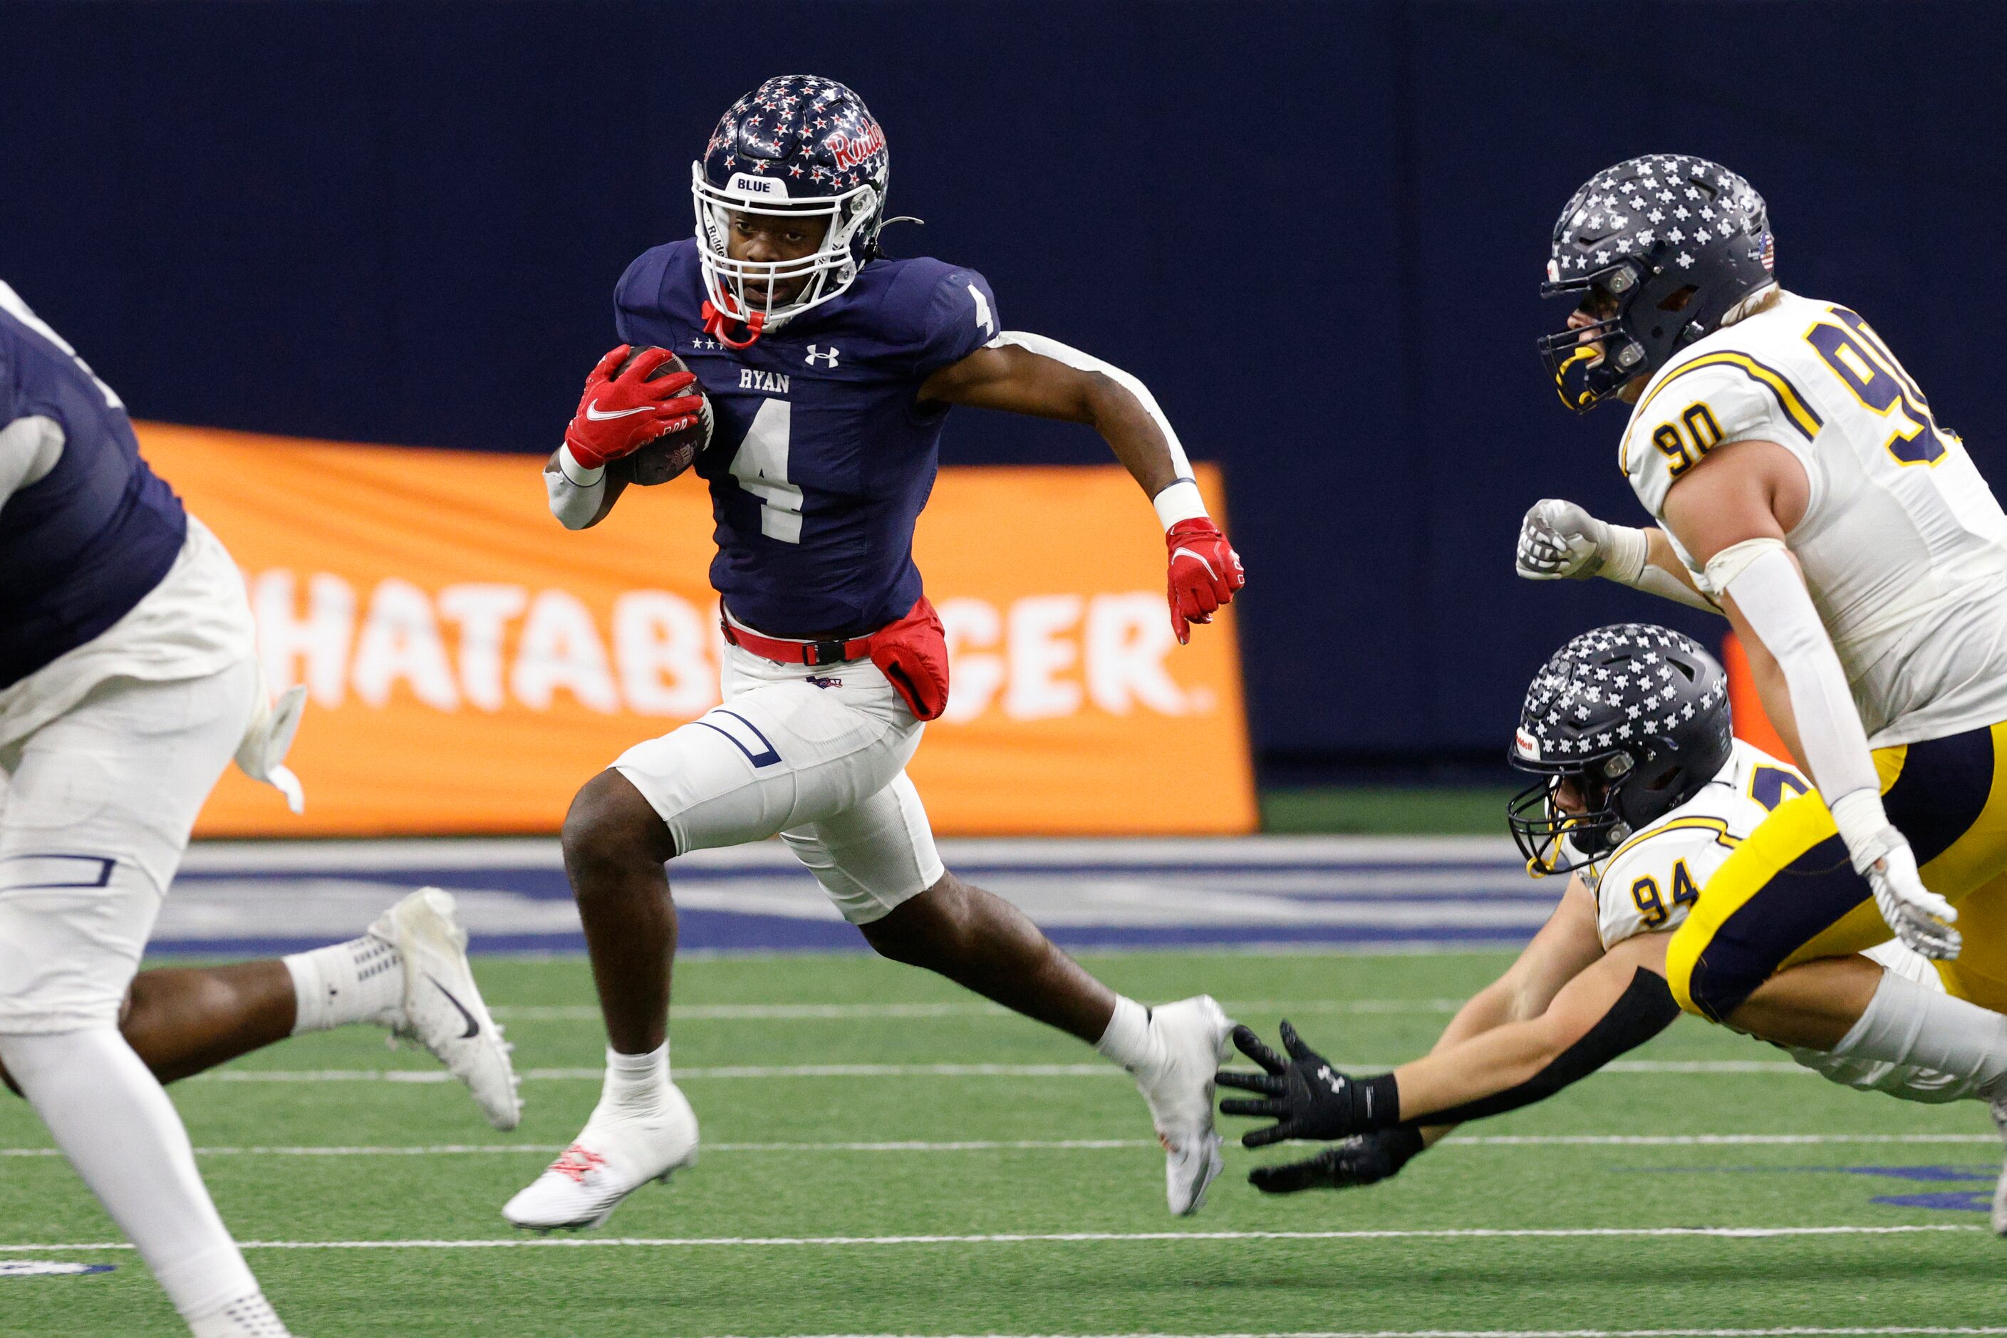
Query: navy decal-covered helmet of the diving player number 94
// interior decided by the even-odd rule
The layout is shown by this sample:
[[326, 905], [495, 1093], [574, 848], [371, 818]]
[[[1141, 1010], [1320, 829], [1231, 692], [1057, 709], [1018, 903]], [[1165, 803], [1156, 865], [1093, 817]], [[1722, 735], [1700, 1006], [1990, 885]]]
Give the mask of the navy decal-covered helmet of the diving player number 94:
[[1507, 806], [1527, 869], [1610, 855], [1690, 800], [1732, 748], [1728, 676], [1694, 638], [1648, 622], [1584, 632], [1533, 678], [1505, 756], [1539, 776]]

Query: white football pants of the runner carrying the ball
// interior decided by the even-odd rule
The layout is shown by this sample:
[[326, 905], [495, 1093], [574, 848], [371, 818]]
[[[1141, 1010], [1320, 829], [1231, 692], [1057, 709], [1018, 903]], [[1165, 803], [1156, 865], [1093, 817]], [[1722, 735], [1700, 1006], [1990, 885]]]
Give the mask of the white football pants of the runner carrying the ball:
[[941, 881], [905, 762], [925, 726], [871, 660], [809, 668], [725, 648], [725, 702], [614, 762], [676, 853], [765, 841], [869, 925]]

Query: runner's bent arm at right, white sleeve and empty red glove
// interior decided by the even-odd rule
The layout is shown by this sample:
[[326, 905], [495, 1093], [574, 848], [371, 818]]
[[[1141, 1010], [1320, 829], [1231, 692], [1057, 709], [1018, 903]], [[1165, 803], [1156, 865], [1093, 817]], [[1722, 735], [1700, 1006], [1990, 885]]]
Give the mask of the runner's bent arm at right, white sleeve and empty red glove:
[[1004, 331], [927, 377], [919, 399], [1056, 417], [1102, 433], [1164, 526], [1170, 626], [1180, 644], [1190, 640], [1190, 624], [1212, 622], [1212, 610], [1246, 582], [1240, 556], [1206, 516], [1192, 461], [1156, 395], [1120, 367], [1058, 339]]

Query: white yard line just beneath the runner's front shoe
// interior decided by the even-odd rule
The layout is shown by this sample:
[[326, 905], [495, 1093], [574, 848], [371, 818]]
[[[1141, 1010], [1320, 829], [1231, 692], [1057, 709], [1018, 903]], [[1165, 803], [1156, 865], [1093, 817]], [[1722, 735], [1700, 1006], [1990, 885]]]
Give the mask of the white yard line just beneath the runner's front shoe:
[[[245, 1240], [245, 1250], [690, 1250], [793, 1246], [1038, 1246], [1234, 1240], [1586, 1240], [1704, 1236], [1780, 1240], [1788, 1236], [1943, 1236], [1987, 1232], [1983, 1226], [1580, 1226], [1580, 1228], [1441, 1228], [1385, 1232], [995, 1232], [971, 1236], [502, 1236], [492, 1240]], [[0, 1254], [72, 1254], [130, 1250], [124, 1242], [0, 1246]], [[1955, 1330], [1947, 1330], [1955, 1332]]]

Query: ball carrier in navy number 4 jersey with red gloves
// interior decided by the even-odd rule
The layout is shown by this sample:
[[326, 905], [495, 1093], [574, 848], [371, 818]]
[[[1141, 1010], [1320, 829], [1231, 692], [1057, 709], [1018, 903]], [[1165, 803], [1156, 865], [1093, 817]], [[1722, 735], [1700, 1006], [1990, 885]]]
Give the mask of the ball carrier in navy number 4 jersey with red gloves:
[[[696, 471], [710, 483], [729, 648], [725, 702], [630, 748], [566, 816], [606, 1087], [564, 1155], [506, 1206], [518, 1226], [598, 1226], [694, 1161], [696, 1117], [668, 1073], [676, 913], [664, 863], [777, 832], [873, 949], [1128, 1067], [1168, 1153], [1172, 1212], [1194, 1212], [1218, 1174], [1220, 1007], [1196, 997], [1150, 1011], [1116, 995], [1010, 903], [941, 867], [905, 774], [947, 702], [941, 622], [911, 544], [941, 423], [961, 403], [1090, 423], [1108, 439], [1164, 526], [1180, 642], [1232, 600], [1240, 560], [1136, 377], [1006, 331], [971, 269], [879, 255], [887, 177], [885, 134], [843, 84], [783, 76], [735, 102], [692, 166], [696, 237], [622, 275], [622, 347], [586, 381], [546, 465], [552, 512], [590, 526], [620, 495], [620, 457], [686, 429], [708, 401]], [[630, 359], [628, 345], [652, 351]], [[670, 351], [690, 373], [648, 379]]]

